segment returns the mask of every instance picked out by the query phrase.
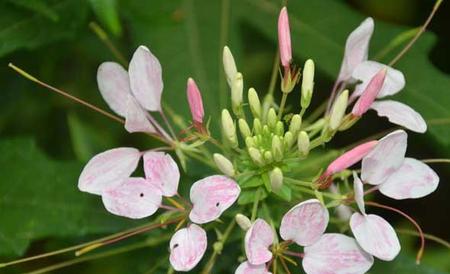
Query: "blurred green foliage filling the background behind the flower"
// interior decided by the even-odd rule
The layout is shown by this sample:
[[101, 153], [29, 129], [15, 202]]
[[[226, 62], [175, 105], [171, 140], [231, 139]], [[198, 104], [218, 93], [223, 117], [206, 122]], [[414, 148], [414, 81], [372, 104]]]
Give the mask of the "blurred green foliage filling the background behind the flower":
[[[222, 47], [228, 44], [232, 49], [246, 85], [253, 84], [263, 94], [276, 51], [276, 19], [280, 5], [281, 1], [275, 0], [1, 1], [2, 261], [54, 250], [136, 225], [136, 222], [107, 214], [97, 197], [79, 192], [77, 176], [83, 163], [102, 150], [157, 145], [145, 136], [129, 135], [120, 124], [111, 123], [27, 82], [7, 68], [8, 62], [106, 109], [97, 91], [95, 74], [101, 62], [114, 60], [114, 56], [89, 30], [89, 22], [95, 20], [126, 57], [140, 44], [153, 51], [163, 66], [163, 101], [186, 120], [189, 115], [185, 83], [188, 77], [194, 77], [203, 92], [212, 127], [217, 130], [215, 121], [229, 97], [220, 62]], [[365, 15], [347, 3], [333, 0], [290, 1], [289, 11], [295, 61], [301, 65], [304, 59], [313, 58], [318, 68], [314, 102], [317, 105], [327, 96], [338, 72], [348, 33]], [[412, 15], [406, 14], [404, 18], [409, 16]], [[369, 57], [377, 56], [390, 41], [411, 28], [376, 20]], [[397, 66], [407, 79], [407, 86], [397, 99], [413, 106], [428, 120], [429, 131], [425, 136], [411, 134], [410, 137], [413, 150], [423, 158], [450, 155], [450, 77], [429, 59], [435, 42], [435, 35], [424, 34]], [[399, 50], [395, 48], [379, 59], [388, 62]], [[290, 104], [296, 107], [297, 99], [292, 96]], [[370, 115], [362, 124], [357, 127], [359, 132], [355, 136], [340, 142], [348, 145], [357, 137], [367, 137], [388, 125]], [[448, 169], [440, 171], [445, 184], [450, 174]], [[201, 165], [190, 166], [189, 174], [204, 173]], [[421, 223], [425, 228], [444, 231], [440, 236], [447, 238], [448, 221], [446, 226], [439, 227], [439, 221], [427, 224], [427, 220], [448, 212], [448, 202], [443, 198], [448, 190], [447, 186], [440, 187], [438, 191], [444, 193], [438, 194], [438, 198], [433, 199], [433, 195], [420, 204], [409, 206], [413, 210], [440, 206], [435, 216], [425, 216], [428, 211], [422, 209], [424, 214], [418, 217], [423, 218]], [[120, 252], [128, 244], [136, 245], [129, 253], [109, 254], [111, 256], [79, 264], [63, 273], [164, 273], [167, 242], [155, 243], [154, 239], [169, 233], [152, 232], [105, 248], [111, 252], [117, 248]], [[214, 237], [211, 234], [211, 238]], [[409, 236], [405, 239], [411, 241]], [[217, 273], [232, 273], [237, 265], [241, 243], [231, 242], [232, 246], [224, 250], [225, 255], [217, 264]], [[448, 260], [441, 259], [448, 258], [448, 250], [431, 246], [424, 257], [425, 265], [416, 266], [415, 243], [413, 239], [404, 244], [405, 251], [396, 261], [378, 262], [370, 273], [449, 273]], [[28, 247], [29, 251], [25, 252]], [[101, 252], [94, 253], [93, 259]], [[5, 271], [22, 272], [64, 259], [73, 259], [73, 256], [60, 256]]]

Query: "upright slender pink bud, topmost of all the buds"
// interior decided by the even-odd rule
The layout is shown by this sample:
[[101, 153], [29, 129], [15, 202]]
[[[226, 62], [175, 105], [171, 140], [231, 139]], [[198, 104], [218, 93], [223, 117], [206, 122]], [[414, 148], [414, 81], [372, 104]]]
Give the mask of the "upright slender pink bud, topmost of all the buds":
[[280, 47], [280, 59], [283, 67], [288, 68], [292, 59], [291, 31], [289, 29], [289, 17], [287, 8], [281, 9], [278, 17], [278, 43]]

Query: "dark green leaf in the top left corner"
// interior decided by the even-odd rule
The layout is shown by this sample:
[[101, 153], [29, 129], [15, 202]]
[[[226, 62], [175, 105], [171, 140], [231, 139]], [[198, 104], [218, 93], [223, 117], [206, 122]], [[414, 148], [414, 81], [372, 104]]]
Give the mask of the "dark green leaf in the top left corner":
[[[36, 5], [34, 9], [37, 9]], [[30, 13], [8, 2], [0, 2], [0, 56], [18, 49], [34, 49], [57, 40], [73, 39], [86, 20], [85, 1], [49, 1], [46, 7], [47, 13], [53, 11], [59, 17], [58, 21], [49, 19], [42, 12]]]

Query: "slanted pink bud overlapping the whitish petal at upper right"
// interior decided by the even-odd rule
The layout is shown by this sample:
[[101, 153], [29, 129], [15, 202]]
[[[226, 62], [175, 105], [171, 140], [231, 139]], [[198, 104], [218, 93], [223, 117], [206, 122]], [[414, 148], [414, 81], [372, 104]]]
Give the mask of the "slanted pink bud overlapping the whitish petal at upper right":
[[387, 69], [383, 68], [372, 77], [366, 89], [353, 106], [352, 114], [354, 116], [361, 117], [372, 106], [381, 88], [383, 88], [386, 71]]

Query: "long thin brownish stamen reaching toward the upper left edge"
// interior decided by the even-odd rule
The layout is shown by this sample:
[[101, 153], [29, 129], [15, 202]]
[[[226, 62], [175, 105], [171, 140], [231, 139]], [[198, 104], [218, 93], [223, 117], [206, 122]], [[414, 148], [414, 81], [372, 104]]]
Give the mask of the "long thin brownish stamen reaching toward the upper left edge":
[[109, 113], [109, 112], [107, 112], [107, 111], [105, 111], [105, 110], [103, 110], [103, 109], [101, 109], [101, 108], [99, 108], [97, 106], [94, 106], [93, 104], [90, 104], [90, 103], [88, 103], [88, 102], [86, 102], [86, 101], [84, 101], [84, 100], [82, 100], [82, 99], [80, 99], [78, 97], [75, 97], [75, 96], [73, 96], [73, 95], [71, 95], [71, 94], [69, 94], [69, 93], [67, 93], [65, 91], [62, 91], [62, 90], [60, 90], [58, 88], [50, 86], [49, 84], [46, 84], [46, 83], [42, 82], [41, 80], [37, 79], [36, 77], [32, 76], [28, 72], [26, 72], [23, 69], [15, 66], [12, 63], [9, 63], [8, 66], [10, 68], [12, 68], [14, 71], [16, 71], [17, 73], [19, 73], [20, 75], [22, 75], [23, 77], [27, 78], [28, 80], [30, 80], [32, 82], [37, 83], [40, 86], [43, 86], [43, 87], [45, 87], [45, 88], [47, 88], [47, 89], [49, 89], [51, 91], [54, 91], [54, 92], [56, 92], [56, 93], [58, 93], [58, 94], [60, 94], [60, 95], [62, 95], [64, 97], [66, 97], [66, 98], [69, 98], [70, 100], [73, 100], [73, 101], [75, 101], [75, 102], [77, 102], [77, 103], [79, 103], [79, 104], [81, 104], [81, 105], [83, 105], [85, 107], [88, 107], [88, 108], [90, 108], [90, 109], [92, 109], [92, 110], [94, 110], [94, 111], [96, 111], [96, 112], [98, 112], [100, 114], [103, 114], [104, 116], [106, 116], [106, 117], [108, 117], [108, 118], [110, 118], [110, 119], [112, 119], [112, 120], [114, 120], [116, 122], [119, 122], [121, 124], [125, 123], [125, 121], [122, 118], [120, 118], [120, 117], [118, 117], [118, 116], [116, 116], [114, 114], [111, 114], [111, 113]]

